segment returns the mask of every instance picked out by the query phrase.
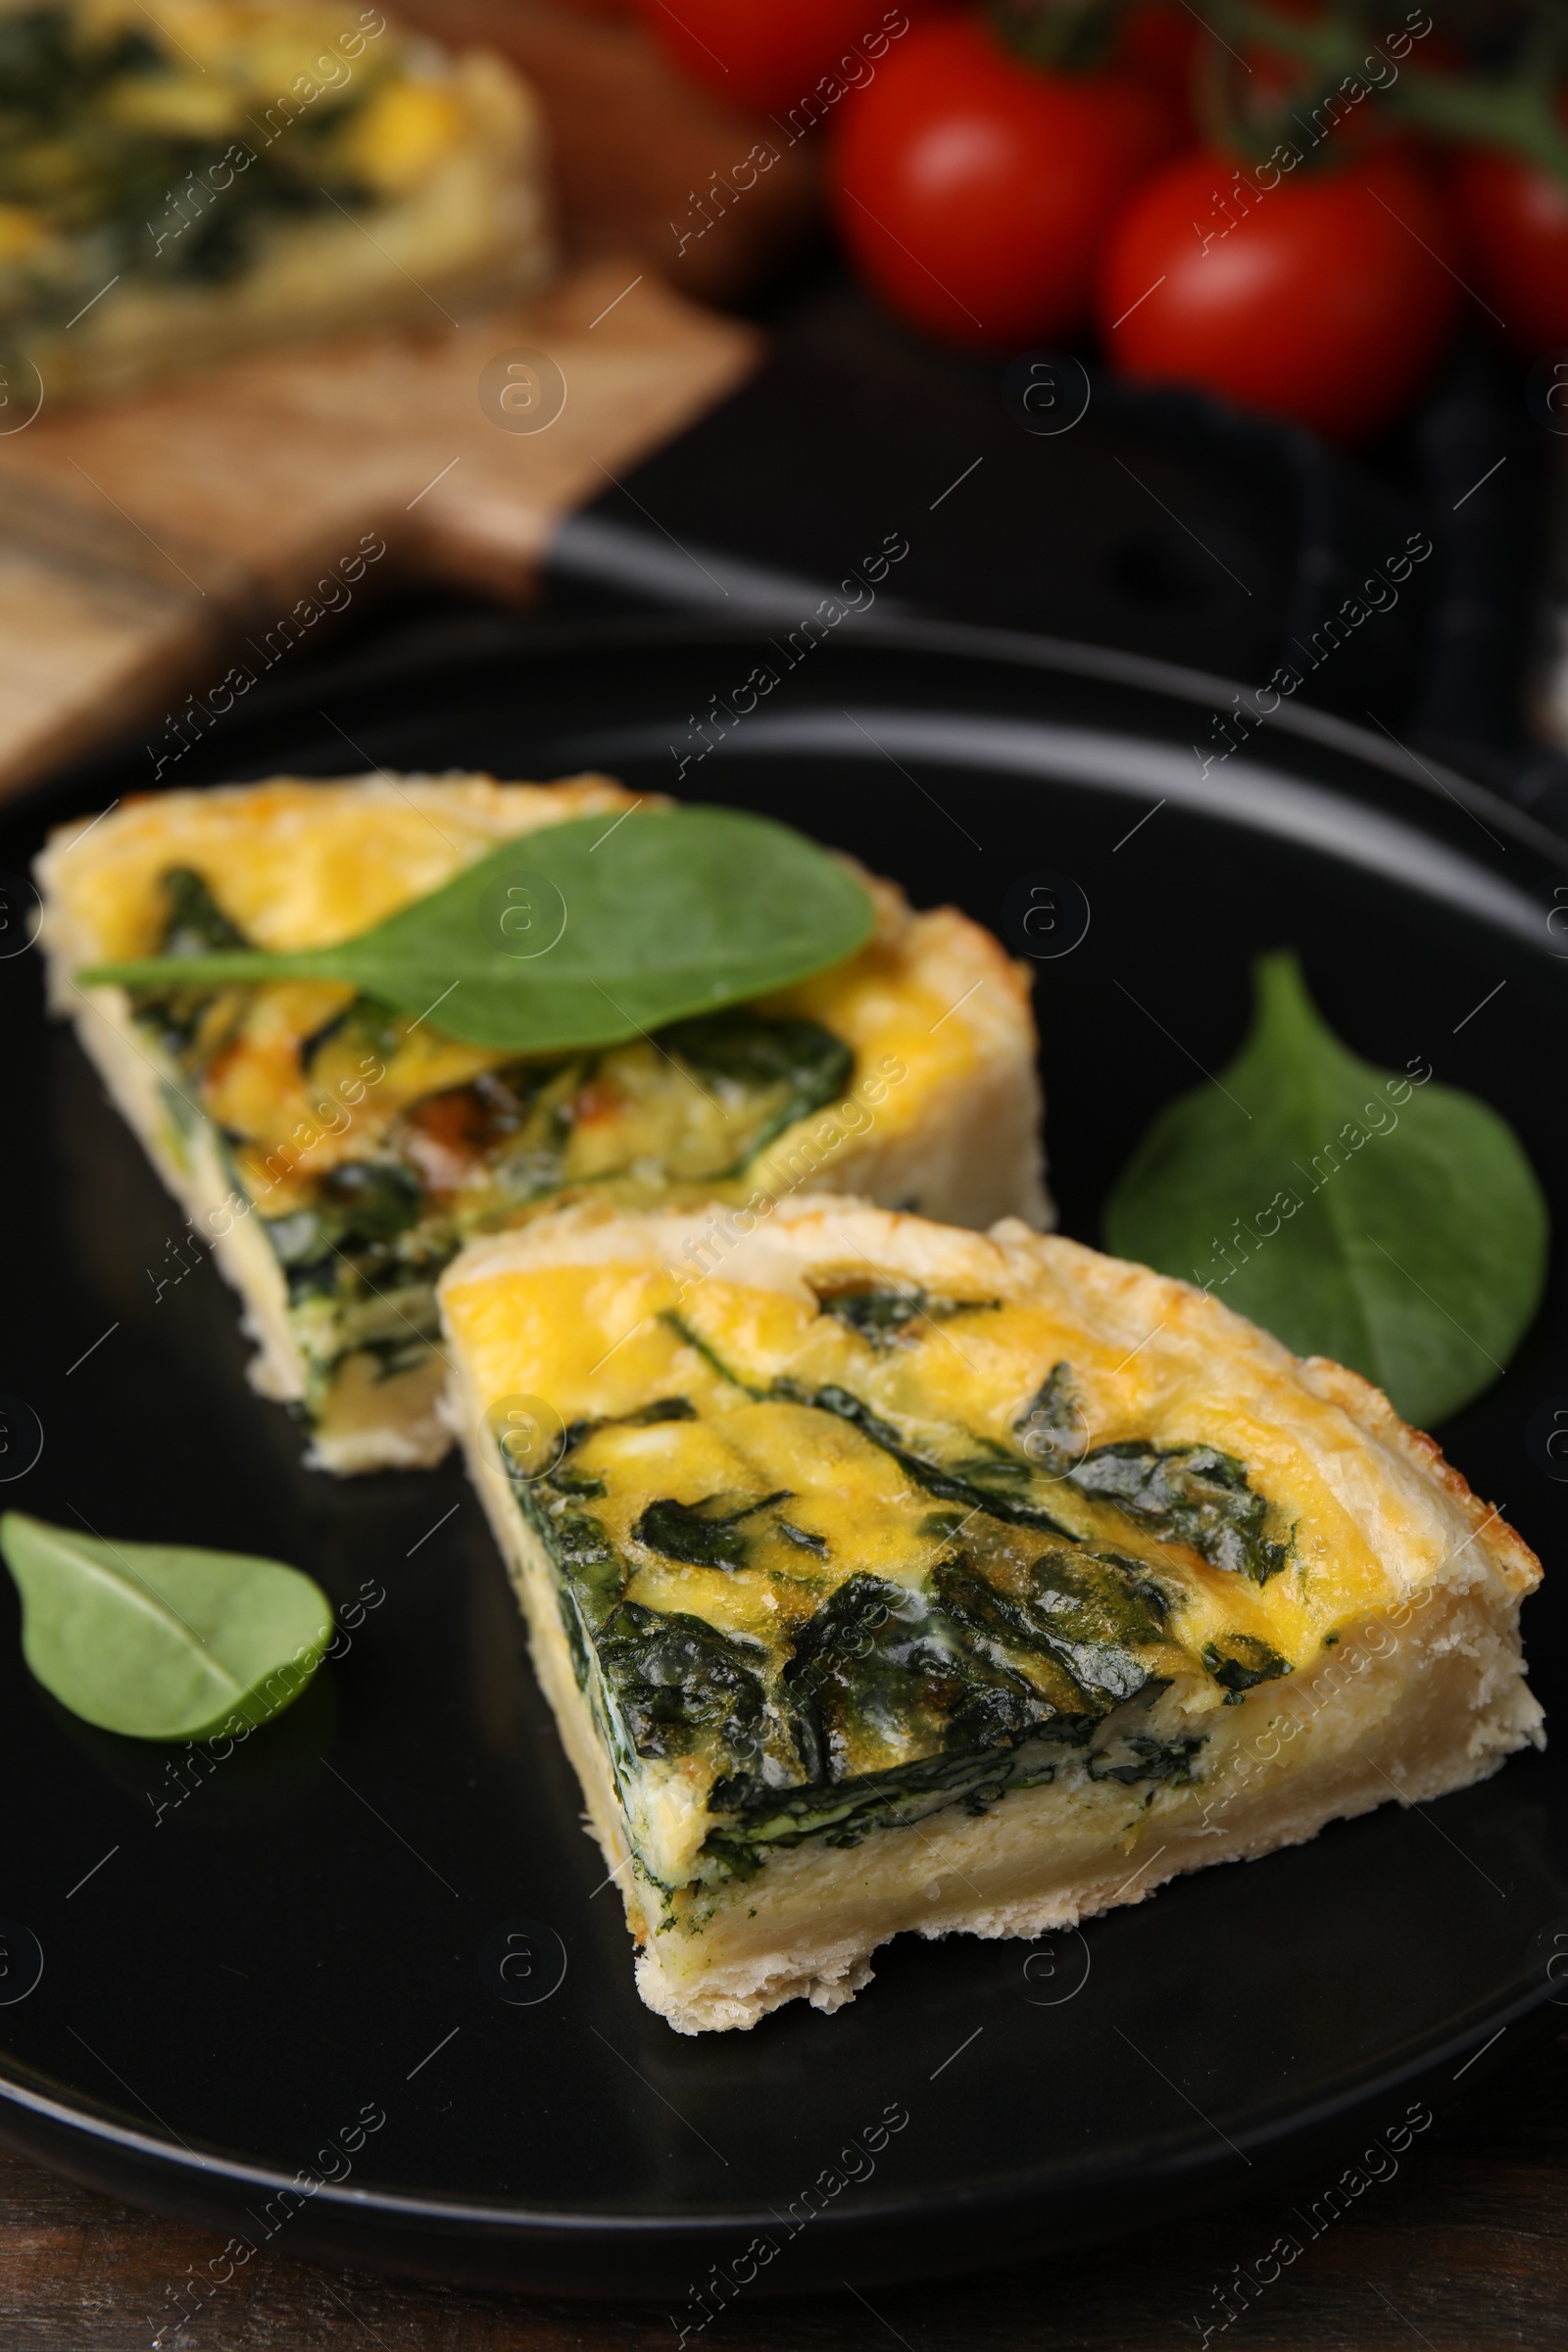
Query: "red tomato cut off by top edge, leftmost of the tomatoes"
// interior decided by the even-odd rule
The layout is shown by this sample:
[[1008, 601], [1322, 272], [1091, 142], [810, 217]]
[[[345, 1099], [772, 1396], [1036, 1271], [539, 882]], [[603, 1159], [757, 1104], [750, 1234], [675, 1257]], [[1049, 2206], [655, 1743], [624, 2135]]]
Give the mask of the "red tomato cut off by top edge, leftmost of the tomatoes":
[[[851, 78], [877, 71], [917, 9], [884, 0], [642, 0], [642, 16], [677, 66], [736, 106], [785, 113], [844, 56]], [[870, 47], [867, 47], [870, 42]]]

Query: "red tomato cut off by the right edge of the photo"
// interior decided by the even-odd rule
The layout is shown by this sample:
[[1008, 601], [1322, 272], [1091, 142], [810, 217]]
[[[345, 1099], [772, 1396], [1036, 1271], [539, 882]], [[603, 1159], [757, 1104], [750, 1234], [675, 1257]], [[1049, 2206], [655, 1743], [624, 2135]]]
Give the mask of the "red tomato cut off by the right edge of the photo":
[[1465, 275], [1505, 341], [1528, 360], [1568, 343], [1568, 186], [1476, 148], [1455, 160], [1450, 191]]

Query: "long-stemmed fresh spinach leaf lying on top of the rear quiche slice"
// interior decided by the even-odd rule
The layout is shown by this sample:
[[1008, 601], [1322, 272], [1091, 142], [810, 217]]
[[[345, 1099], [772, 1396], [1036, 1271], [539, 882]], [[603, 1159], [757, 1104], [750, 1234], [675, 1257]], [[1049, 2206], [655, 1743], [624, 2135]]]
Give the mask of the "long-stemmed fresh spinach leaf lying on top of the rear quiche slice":
[[468, 1044], [618, 1044], [844, 962], [872, 903], [816, 842], [741, 809], [576, 816], [503, 842], [360, 938], [94, 964], [85, 983], [348, 981]]

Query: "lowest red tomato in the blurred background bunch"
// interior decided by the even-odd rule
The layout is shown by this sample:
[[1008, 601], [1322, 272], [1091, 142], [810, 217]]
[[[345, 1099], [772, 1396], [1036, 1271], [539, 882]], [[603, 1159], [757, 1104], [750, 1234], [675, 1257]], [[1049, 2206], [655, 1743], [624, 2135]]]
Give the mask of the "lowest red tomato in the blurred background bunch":
[[1335, 440], [1378, 433], [1453, 325], [1432, 183], [1399, 148], [1340, 169], [1262, 167], [1244, 198], [1234, 172], [1229, 158], [1185, 155], [1121, 214], [1100, 275], [1112, 365]]

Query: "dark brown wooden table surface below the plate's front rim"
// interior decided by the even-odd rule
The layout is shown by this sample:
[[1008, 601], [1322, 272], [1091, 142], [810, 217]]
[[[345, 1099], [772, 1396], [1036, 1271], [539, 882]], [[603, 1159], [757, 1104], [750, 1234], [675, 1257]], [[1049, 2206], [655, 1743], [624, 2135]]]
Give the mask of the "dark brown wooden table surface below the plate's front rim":
[[[1324, 2166], [1302, 2180], [1321, 2187]], [[1568, 2347], [1568, 2034], [1443, 2105], [1399, 2176], [1368, 2187], [1276, 2284], [1220, 2326], [1215, 2288], [1274, 2241], [1295, 2190], [1077, 2263], [945, 2286], [743, 2303], [705, 2352], [1556, 2352]], [[1305, 2232], [1302, 2232], [1305, 2234]], [[221, 2237], [153, 2220], [0, 2157], [0, 2347], [132, 2352], [165, 2291]], [[1232, 2288], [1234, 2293], [1234, 2288]], [[1234, 2307], [1234, 2305], [1232, 2305]], [[468, 2293], [259, 2256], [160, 2352], [670, 2352], [663, 2305]]]

